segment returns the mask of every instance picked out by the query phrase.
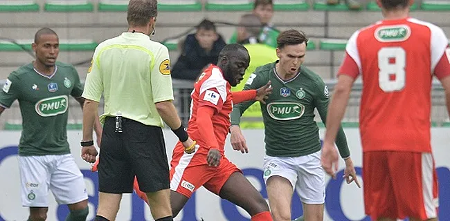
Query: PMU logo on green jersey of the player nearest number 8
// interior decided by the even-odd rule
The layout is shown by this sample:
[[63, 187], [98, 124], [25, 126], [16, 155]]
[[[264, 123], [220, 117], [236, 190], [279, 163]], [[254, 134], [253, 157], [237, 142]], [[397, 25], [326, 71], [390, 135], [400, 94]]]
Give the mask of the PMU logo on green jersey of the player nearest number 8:
[[275, 102], [267, 105], [267, 113], [278, 120], [298, 119], [305, 113], [305, 106], [291, 102]]

